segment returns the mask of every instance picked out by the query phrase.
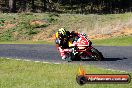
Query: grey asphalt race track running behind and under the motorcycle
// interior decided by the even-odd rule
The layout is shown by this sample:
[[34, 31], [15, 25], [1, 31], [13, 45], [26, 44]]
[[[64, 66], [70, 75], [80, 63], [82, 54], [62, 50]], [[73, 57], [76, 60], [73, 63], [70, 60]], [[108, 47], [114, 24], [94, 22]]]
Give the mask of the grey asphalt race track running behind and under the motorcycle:
[[[105, 57], [103, 61], [73, 61], [103, 68], [132, 71], [132, 46], [95, 46]], [[68, 63], [63, 61], [55, 46], [43, 44], [0, 44], [0, 57]]]

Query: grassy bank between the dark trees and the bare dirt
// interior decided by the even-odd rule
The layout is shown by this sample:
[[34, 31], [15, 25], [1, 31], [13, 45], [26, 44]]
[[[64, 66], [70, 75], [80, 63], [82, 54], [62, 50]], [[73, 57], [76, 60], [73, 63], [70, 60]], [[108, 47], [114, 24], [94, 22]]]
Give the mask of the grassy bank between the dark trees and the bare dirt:
[[[70, 31], [74, 30], [85, 32], [86, 34], [88, 34], [90, 30], [95, 30], [99, 33], [107, 33], [112, 30], [111, 26], [116, 27], [119, 25], [125, 25], [125, 27], [131, 27], [131, 19], [131, 13], [107, 15], [1, 13], [0, 27], [2, 27], [2, 31], [0, 32], [0, 40], [32, 40], [33, 36], [41, 32], [45, 32], [45, 34], [42, 35], [45, 36], [44, 38], [49, 38], [56, 32], [56, 30], [58, 30], [58, 28], [61, 27], [65, 27]], [[32, 22], [33, 20], [45, 21], [46, 24], [34, 26], [30, 25], [30, 22]], [[8, 29], [3, 29], [3, 27], [7, 24], [16, 24], [16, 26]]]

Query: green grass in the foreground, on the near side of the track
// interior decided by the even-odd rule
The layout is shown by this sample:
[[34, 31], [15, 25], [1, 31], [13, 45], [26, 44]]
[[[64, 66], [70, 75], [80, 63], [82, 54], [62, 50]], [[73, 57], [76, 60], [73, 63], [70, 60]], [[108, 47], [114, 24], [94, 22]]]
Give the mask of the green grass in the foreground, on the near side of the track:
[[[130, 88], [129, 84], [76, 83], [78, 64], [35, 63], [0, 58], [0, 88]], [[88, 74], [126, 74], [92, 65], [82, 65]], [[132, 73], [130, 72], [132, 76]]]

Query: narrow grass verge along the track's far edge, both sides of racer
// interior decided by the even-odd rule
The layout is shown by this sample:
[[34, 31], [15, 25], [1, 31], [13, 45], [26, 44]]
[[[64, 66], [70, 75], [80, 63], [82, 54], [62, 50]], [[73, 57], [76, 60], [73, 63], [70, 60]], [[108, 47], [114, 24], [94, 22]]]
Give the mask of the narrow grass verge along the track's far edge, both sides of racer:
[[[92, 40], [94, 45], [101, 46], [132, 46], [132, 36], [113, 37], [108, 39]], [[0, 41], [0, 44], [49, 44], [53, 45], [53, 41]]]

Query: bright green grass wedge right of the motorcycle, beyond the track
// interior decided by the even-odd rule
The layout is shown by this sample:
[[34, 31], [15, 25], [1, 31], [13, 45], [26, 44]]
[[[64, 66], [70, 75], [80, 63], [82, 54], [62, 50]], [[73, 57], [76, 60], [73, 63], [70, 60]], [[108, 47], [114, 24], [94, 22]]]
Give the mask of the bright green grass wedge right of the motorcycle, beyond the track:
[[108, 39], [92, 40], [94, 45], [104, 46], [132, 46], [132, 36], [113, 37]]

